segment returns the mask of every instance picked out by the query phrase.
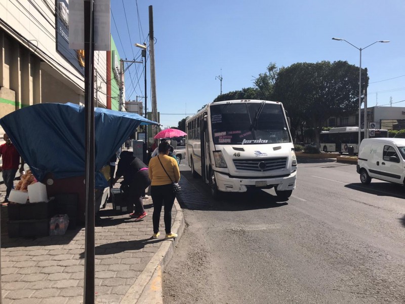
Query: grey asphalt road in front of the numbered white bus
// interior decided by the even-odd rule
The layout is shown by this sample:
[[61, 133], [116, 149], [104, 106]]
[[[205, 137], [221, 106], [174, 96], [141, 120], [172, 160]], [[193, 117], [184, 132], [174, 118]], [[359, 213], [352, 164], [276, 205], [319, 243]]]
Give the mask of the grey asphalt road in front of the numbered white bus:
[[164, 303], [405, 303], [405, 192], [355, 165], [299, 164], [287, 201], [269, 193], [208, 197], [182, 178], [197, 208], [163, 275]]

